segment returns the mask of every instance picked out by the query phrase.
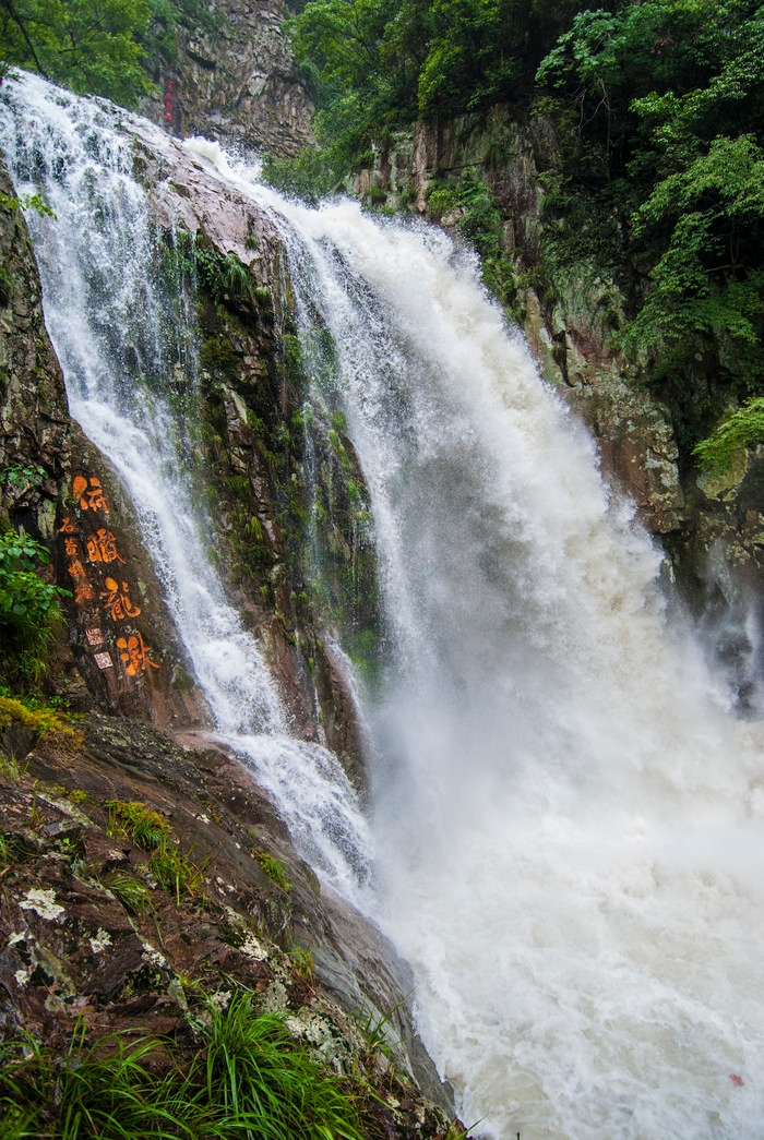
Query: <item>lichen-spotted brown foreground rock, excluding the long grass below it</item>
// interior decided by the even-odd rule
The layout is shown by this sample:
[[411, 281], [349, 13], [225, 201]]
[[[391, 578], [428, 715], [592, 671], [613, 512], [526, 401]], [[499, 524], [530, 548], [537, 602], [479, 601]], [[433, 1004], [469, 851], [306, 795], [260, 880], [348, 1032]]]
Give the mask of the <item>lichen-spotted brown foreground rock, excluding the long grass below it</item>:
[[[441, 1135], [448, 1092], [408, 1012], [390, 1018], [395, 1065], [439, 1109], [361, 1032], [400, 1002], [401, 963], [319, 887], [241, 764], [204, 734], [98, 715], [75, 731], [81, 742], [41, 736], [17, 757], [7, 728], [0, 743], [2, 1035], [23, 1026], [58, 1048], [82, 1018], [89, 1037], [130, 1029], [190, 1044], [194, 988], [226, 1001], [244, 985], [336, 1070], [368, 1070], [383, 1134]], [[136, 809], [153, 813], [163, 847], [131, 828]], [[174, 879], [162, 850], [180, 861]], [[262, 853], [278, 861], [277, 881]]]

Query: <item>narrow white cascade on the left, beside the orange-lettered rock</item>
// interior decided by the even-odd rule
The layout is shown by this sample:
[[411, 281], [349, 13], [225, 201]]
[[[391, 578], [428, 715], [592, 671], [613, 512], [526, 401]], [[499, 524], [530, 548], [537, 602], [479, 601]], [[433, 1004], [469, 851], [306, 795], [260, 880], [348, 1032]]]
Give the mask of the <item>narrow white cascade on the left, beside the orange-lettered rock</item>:
[[[46, 323], [72, 414], [130, 491], [219, 738], [254, 766], [301, 854], [352, 896], [369, 868], [356, 796], [331, 752], [290, 735], [258, 645], [208, 557], [182, 431], [163, 396], [179, 364], [193, 384], [193, 343], [168, 352], [178, 323], [155, 283], [147, 198], [133, 177], [137, 122], [35, 76], [3, 84], [0, 144], [17, 190], [42, 190], [55, 213], [27, 217]], [[166, 136], [140, 127], [161, 150]]]

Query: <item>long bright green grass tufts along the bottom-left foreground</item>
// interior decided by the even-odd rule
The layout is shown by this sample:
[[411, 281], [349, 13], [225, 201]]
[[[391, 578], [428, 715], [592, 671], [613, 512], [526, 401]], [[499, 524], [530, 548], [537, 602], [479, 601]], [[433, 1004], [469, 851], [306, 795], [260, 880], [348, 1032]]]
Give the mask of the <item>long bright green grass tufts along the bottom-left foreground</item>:
[[201, 1048], [188, 1065], [156, 1037], [88, 1043], [64, 1056], [32, 1036], [0, 1045], [0, 1132], [60, 1140], [361, 1140], [340, 1081], [298, 1048], [279, 1015], [252, 995], [194, 1018]]

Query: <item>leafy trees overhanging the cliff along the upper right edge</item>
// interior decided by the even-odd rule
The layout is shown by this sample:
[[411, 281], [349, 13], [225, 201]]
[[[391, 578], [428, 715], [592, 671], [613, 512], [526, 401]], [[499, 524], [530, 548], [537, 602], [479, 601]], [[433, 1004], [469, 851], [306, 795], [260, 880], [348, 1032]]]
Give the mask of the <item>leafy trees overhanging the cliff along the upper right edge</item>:
[[[538, 80], [568, 128], [569, 199], [605, 204], [643, 274], [619, 343], [647, 361], [692, 443], [718, 415], [717, 389], [756, 392], [764, 380], [764, 7], [585, 11]], [[564, 209], [554, 214], [564, 230]], [[568, 228], [579, 262], [612, 263], [618, 242], [604, 249], [602, 227]]]

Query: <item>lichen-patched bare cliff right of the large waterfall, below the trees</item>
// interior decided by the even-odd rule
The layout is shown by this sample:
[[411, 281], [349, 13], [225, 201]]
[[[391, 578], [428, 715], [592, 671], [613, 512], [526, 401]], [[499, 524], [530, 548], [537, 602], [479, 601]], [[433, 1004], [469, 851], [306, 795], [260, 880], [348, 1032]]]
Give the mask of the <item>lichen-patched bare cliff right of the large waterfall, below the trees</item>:
[[[670, 409], [645, 385], [641, 363], [618, 348], [628, 307], [623, 274], [615, 279], [586, 260], [554, 269], [545, 256], [544, 239], [556, 225], [562, 142], [542, 108], [521, 121], [515, 112], [495, 106], [396, 133], [355, 177], [353, 192], [376, 204], [414, 203], [424, 214], [429, 189], [444, 179], [455, 184], [465, 171], [485, 179], [503, 218], [502, 249], [518, 283], [514, 309], [539, 370], [591, 427], [607, 477], [628, 492], [640, 521], [664, 536], [684, 602], [702, 616], [709, 641], [713, 634], [717, 665], [737, 671], [745, 707], [759, 663], [761, 449], [748, 448], [737, 478], [720, 488], [681, 459]], [[453, 230], [458, 217], [440, 220]], [[539, 271], [551, 288], [538, 286]], [[632, 279], [628, 287], [639, 285]], [[705, 386], [699, 376], [698, 389]]]

